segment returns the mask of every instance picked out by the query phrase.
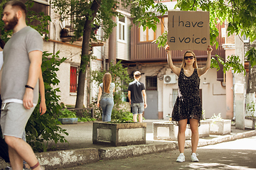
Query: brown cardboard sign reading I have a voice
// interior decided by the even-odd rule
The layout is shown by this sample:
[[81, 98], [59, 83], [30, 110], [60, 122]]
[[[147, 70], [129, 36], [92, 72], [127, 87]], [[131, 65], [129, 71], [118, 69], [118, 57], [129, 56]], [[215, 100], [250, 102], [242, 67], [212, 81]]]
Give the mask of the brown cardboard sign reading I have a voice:
[[169, 11], [170, 50], [207, 50], [210, 45], [208, 11]]

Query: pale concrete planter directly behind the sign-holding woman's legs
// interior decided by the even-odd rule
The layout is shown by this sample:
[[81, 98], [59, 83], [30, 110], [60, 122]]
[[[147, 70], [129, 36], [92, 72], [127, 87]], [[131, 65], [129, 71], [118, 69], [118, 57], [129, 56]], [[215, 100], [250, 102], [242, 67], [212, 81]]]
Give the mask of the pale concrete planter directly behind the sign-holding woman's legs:
[[[178, 126], [174, 122], [153, 123], [154, 140], [178, 140]], [[191, 137], [191, 130], [188, 125], [185, 132], [186, 140]]]

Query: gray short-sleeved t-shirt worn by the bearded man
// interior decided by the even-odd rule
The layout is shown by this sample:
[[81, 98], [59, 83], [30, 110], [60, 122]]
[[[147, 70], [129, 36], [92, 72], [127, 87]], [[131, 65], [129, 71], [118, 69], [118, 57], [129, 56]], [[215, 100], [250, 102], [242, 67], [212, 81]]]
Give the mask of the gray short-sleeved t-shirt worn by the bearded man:
[[[2, 101], [23, 100], [28, 82], [30, 60], [28, 53], [43, 51], [43, 38], [33, 28], [27, 26], [11, 36], [4, 46], [4, 65], [1, 77]], [[38, 82], [33, 90], [33, 103], [38, 103]]]

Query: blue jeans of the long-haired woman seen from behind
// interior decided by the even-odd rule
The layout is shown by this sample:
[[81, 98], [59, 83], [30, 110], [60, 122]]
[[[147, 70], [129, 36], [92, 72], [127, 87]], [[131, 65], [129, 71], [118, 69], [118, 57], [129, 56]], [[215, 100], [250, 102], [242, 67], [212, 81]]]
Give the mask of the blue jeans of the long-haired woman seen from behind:
[[100, 100], [100, 106], [101, 106], [102, 112], [103, 112], [102, 121], [110, 122], [112, 108], [114, 107], [114, 99], [113, 98], [102, 98]]

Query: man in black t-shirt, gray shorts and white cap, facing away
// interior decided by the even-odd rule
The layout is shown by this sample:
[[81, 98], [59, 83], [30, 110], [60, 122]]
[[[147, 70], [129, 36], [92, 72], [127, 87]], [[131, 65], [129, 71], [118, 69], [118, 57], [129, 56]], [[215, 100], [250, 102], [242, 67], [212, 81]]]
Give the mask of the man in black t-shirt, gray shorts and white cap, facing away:
[[139, 71], [134, 72], [134, 81], [132, 81], [132, 83], [129, 83], [128, 86], [128, 98], [129, 103], [132, 107], [133, 121], [137, 122], [137, 115], [139, 114], [139, 123], [142, 123], [142, 113], [147, 105], [145, 86], [142, 82], [139, 81], [140, 78], [141, 73]]

